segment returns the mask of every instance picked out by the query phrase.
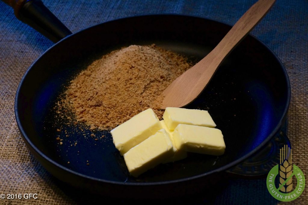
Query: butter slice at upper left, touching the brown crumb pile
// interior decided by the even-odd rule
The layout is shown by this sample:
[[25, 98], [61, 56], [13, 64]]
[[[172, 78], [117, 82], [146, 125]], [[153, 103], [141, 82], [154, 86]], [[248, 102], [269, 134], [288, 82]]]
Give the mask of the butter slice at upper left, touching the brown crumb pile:
[[162, 129], [158, 117], [152, 109], [135, 115], [111, 130], [113, 144], [121, 155]]

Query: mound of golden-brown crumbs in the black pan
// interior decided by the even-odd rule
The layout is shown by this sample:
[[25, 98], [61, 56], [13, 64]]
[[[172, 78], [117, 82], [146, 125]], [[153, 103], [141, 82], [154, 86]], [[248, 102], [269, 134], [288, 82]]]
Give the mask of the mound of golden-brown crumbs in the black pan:
[[162, 92], [191, 65], [155, 44], [115, 50], [81, 71], [57, 107], [72, 111], [67, 119], [85, 123], [90, 130], [110, 130], [149, 107], [161, 118]]

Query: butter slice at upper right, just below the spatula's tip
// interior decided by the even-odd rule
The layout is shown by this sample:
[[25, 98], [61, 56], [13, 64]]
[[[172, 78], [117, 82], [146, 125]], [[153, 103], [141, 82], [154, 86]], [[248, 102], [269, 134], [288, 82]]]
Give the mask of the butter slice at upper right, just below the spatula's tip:
[[199, 125], [210, 128], [216, 127], [211, 115], [205, 110], [167, 107], [163, 118], [170, 130], [174, 130], [178, 124]]

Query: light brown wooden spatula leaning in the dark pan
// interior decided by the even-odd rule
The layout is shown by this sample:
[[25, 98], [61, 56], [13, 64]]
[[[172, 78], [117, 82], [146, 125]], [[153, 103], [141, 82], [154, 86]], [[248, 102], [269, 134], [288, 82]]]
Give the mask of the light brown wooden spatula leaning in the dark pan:
[[196, 99], [225, 57], [259, 23], [274, 2], [275, 0], [259, 0], [251, 6], [207, 56], [176, 78], [164, 90], [161, 108], [183, 107]]

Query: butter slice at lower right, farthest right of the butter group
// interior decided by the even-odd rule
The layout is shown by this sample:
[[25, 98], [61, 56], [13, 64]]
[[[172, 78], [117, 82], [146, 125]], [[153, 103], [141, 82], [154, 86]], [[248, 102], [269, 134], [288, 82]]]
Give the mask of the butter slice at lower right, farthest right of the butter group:
[[173, 132], [177, 149], [187, 152], [220, 156], [225, 152], [225, 141], [216, 128], [179, 124]]

